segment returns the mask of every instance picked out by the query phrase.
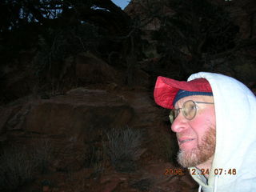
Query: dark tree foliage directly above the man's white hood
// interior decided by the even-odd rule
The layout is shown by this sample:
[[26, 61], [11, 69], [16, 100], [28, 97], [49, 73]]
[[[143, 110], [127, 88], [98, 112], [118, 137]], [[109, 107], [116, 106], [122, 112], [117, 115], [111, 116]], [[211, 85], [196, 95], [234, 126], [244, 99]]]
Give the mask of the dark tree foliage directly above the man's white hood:
[[202, 69], [205, 55], [234, 48], [238, 27], [221, 6], [204, 0], [164, 3], [173, 14], [158, 17], [161, 26], [154, 39], [164, 58], [182, 64], [186, 74]]

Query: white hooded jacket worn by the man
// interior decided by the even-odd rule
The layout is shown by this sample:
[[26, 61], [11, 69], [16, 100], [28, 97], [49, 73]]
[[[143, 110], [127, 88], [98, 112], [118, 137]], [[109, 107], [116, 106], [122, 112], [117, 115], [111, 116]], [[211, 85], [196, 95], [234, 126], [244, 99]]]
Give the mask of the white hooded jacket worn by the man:
[[[222, 74], [200, 72], [214, 94], [216, 148], [208, 182], [199, 174], [192, 178], [205, 192], [256, 191], [256, 98], [238, 80]], [[195, 167], [190, 167], [195, 169]], [[221, 173], [222, 171], [222, 173]]]

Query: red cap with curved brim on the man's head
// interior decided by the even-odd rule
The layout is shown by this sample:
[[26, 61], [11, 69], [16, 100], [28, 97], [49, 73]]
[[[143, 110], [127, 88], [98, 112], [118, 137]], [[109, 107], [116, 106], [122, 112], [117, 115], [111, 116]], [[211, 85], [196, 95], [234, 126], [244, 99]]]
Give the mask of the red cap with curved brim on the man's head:
[[180, 82], [159, 76], [154, 86], [154, 101], [163, 108], [174, 109], [174, 98], [178, 90], [193, 92], [190, 95], [209, 95], [212, 93], [210, 83], [206, 78], [195, 78], [190, 82]]

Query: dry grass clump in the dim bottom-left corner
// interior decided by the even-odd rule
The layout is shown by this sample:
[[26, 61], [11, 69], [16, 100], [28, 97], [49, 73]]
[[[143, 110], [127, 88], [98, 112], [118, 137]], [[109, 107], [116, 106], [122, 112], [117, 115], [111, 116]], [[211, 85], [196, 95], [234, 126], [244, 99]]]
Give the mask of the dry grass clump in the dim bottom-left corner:
[[51, 145], [45, 139], [38, 141], [32, 149], [27, 146], [4, 148], [0, 154], [0, 190], [18, 190], [33, 181], [38, 170], [46, 172], [50, 157]]

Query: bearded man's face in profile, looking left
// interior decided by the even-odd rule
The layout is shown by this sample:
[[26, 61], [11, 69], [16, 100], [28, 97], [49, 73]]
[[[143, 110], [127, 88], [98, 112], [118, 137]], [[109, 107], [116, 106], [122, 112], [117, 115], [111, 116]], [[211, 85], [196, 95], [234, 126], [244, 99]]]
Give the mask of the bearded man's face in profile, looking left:
[[[188, 96], [175, 103], [175, 109], [182, 108], [184, 102], [214, 102], [210, 96]], [[171, 129], [178, 139], [178, 162], [184, 167], [200, 166], [213, 158], [215, 151], [215, 110], [213, 104], [198, 103], [197, 114], [188, 120], [182, 110], [175, 118]]]

